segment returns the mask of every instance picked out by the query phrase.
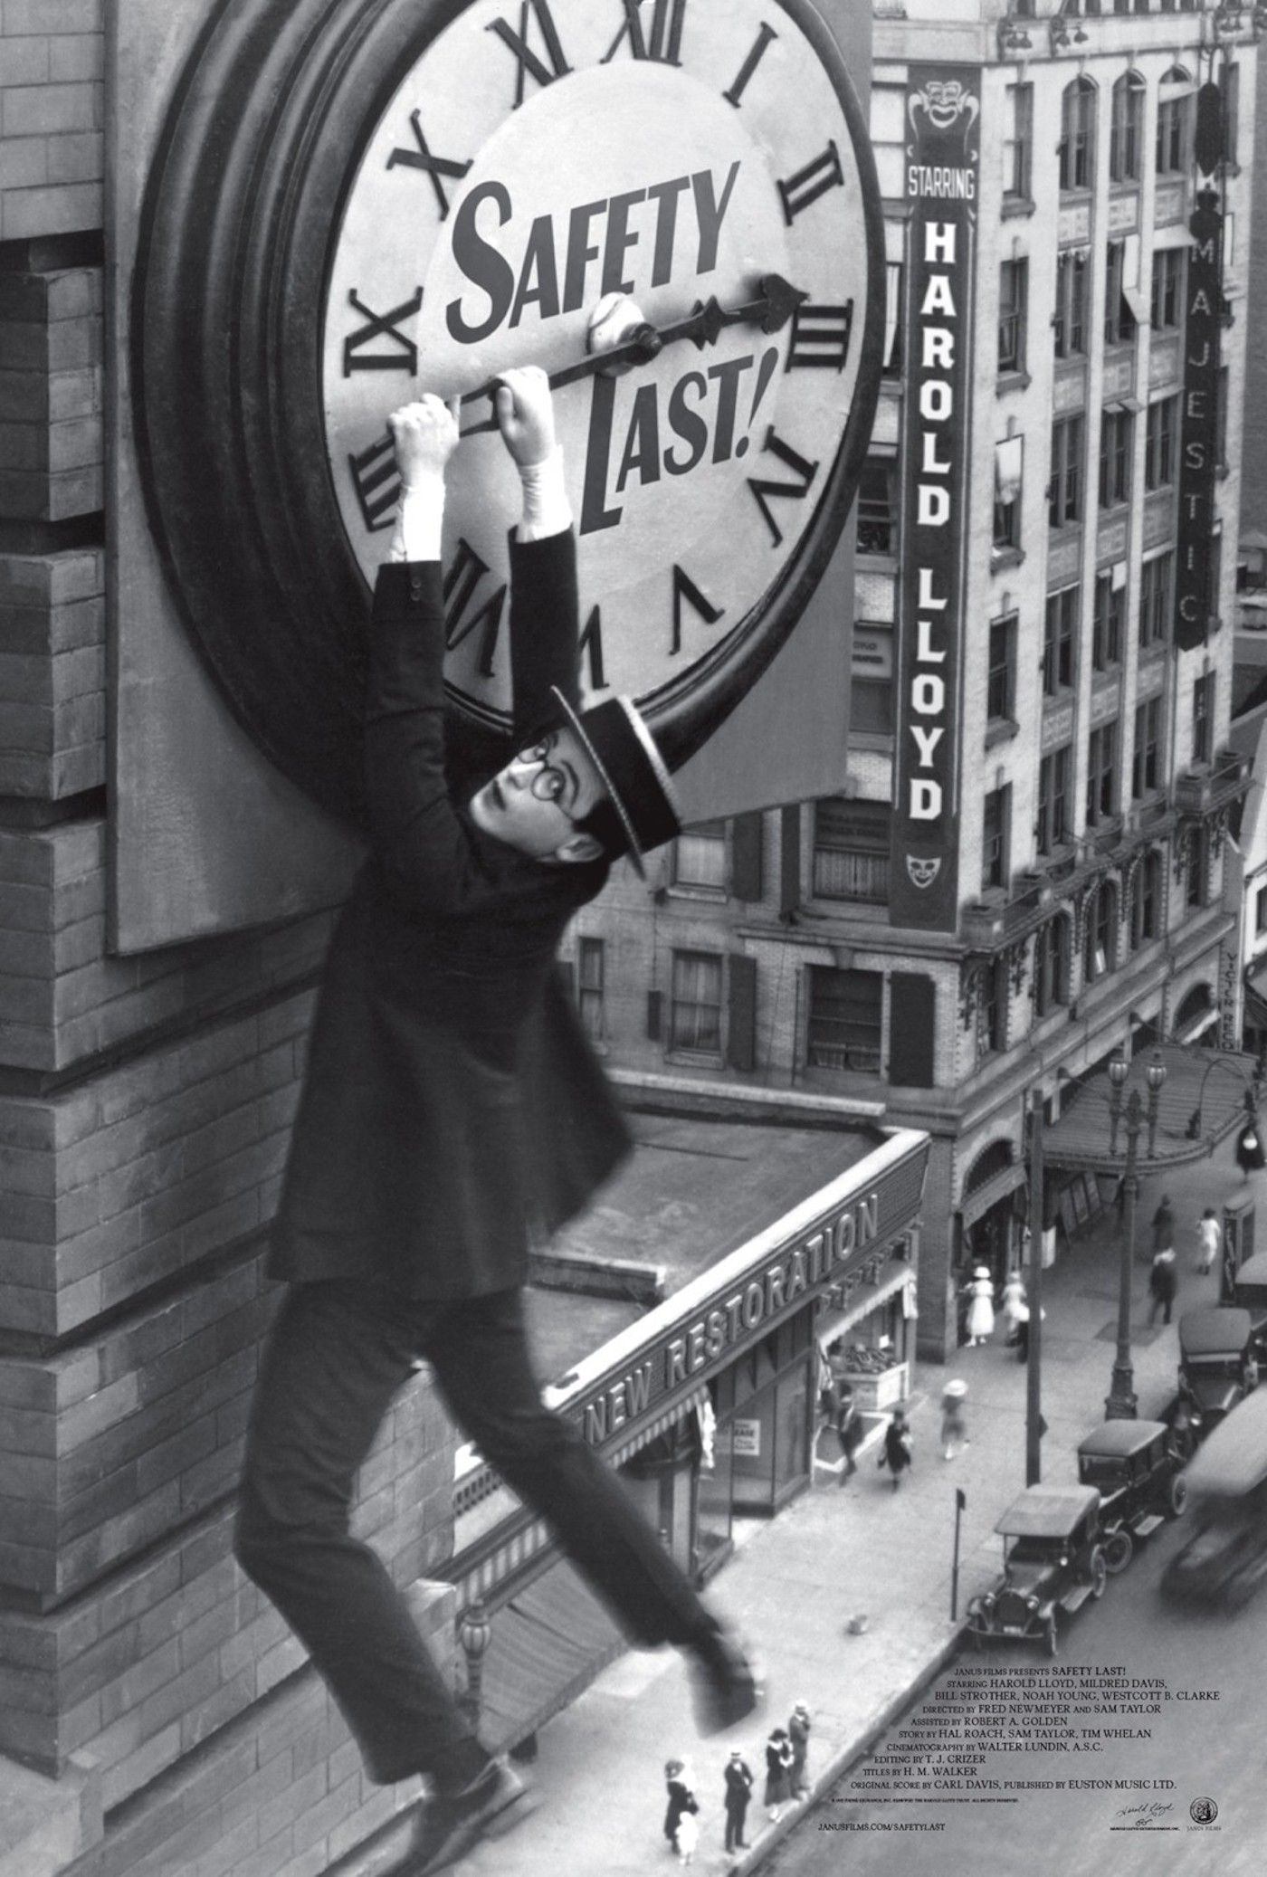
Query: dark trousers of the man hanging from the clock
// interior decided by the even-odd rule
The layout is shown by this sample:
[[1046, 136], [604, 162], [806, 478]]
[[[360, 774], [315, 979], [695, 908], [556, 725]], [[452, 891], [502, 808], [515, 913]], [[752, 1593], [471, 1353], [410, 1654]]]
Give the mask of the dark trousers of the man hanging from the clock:
[[612, 1470], [541, 1404], [522, 1295], [426, 1303], [355, 1282], [293, 1284], [263, 1355], [237, 1556], [304, 1642], [372, 1779], [469, 1764], [471, 1729], [389, 1571], [349, 1534], [357, 1470], [419, 1357], [454, 1419], [640, 1644], [710, 1618]]

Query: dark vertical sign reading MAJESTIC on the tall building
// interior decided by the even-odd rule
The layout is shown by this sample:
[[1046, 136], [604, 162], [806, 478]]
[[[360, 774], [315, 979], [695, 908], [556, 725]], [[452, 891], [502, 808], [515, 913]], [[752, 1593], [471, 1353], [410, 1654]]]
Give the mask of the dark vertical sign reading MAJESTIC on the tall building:
[[1183, 420], [1179, 426], [1179, 552], [1175, 556], [1175, 644], [1203, 646], [1211, 593], [1214, 539], [1214, 458], [1218, 454], [1218, 323], [1224, 293], [1220, 250], [1224, 218], [1214, 190], [1201, 190], [1188, 250], [1188, 304], [1183, 362]]

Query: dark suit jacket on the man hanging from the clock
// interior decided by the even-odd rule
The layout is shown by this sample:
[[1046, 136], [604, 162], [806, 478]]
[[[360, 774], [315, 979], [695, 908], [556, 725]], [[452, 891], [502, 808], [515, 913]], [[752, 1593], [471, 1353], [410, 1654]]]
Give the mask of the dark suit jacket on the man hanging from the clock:
[[372, 852], [338, 923], [268, 1259], [413, 1297], [522, 1284], [627, 1152], [554, 955], [606, 862], [484, 835], [475, 788], [576, 696], [574, 541], [512, 544], [514, 736], [447, 764], [441, 571], [387, 565], [366, 689]]

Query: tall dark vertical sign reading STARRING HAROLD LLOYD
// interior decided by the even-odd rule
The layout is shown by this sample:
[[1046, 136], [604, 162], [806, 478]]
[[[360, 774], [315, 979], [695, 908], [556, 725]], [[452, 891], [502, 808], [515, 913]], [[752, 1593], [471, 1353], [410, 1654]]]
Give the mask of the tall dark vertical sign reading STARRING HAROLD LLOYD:
[[954, 931], [963, 668], [963, 503], [980, 75], [910, 66], [897, 779], [890, 923]]

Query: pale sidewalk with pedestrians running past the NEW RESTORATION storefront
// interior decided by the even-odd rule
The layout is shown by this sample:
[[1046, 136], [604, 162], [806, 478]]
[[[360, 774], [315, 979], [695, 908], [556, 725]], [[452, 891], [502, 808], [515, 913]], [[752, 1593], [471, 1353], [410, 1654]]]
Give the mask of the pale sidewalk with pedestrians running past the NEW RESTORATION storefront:
[[[1162, 1196], [1175, 1211], [1179, 1297], [1175, 1321], [1196, 1303], [1218, 1301], [1218, 1271], [1196, 1276], [1196, 1220], [1218, 1207], [1241, 1175], [1224, 1143], [1211, 1160], [1141, 1181], [1134, 1261], [1132, 1359], [1141, 1417], [1154, 1417], [1175, 1393], [1175, 1327], [1147, 1327], [1151, 1218]], [[1267, 1179], [1258, 1175], [1259, 1205]], [[1079, 1438], [1104, 1419], [1117, 1335], [1119, 1241], [1109, 1213], [1044, 1273], [1044, 1479], [1076, 1479]], [[939, 1443], [940, 1391], [950, 1376], [969, 1381], [970, 1445], [950, 1464]], [[946, 1366], [920, 1365], [912, 1393], [916, 1457], [893, 1492], [877, 1470], [877, 1438], [841, 1488], [815, 1468], [813, 1490], [770, 1522], [749, 1528], [719, 1575], [711, 1601], [749, 1637], [766, 1663], [764, 1716], [732, 1736], [698, 1740], [687, 1676], [672, 1650], [634, 1652], [616, 1661], [567, 1712], [541, 1732], [531, 1768], [537, 1811], [501, 1843], [488, 1843], [460, 1868], [471, 1877], [559, 1877], [603, 1871], [644, 1877], [674, 1869], [661, 1836], [663, 1766], [691, 1763], [700, 1800], [700, 1873], [747, 1871], [790, 1828], [800, 1808], [770, 1826], [760, 1806], [764, 1738], [786, 1723], [792, 1704], [813, 1716], [809, 1772], [822, 1789], [848, 1766], [927, 1682], [954, 1648], [950, 1565], [955, 1487], [967, 1492], [961, 1530], [959, 1612], [999, 1567], [993, 1526], [1025, 1487], [1025, 1378], [1002, 1336], [957, 1351]], [[1130, 1594], [1130, 1573], [1109, 1595]], [[848, 1633], [856, 1614], [869, 1618]], [[751, 1849], [736, 1862], [723, 1851], [723, 1766], [732, 1746], [756, 1776], [747, 1826]], [[360, 1866], [368, 1869], [368, 1866]]]

